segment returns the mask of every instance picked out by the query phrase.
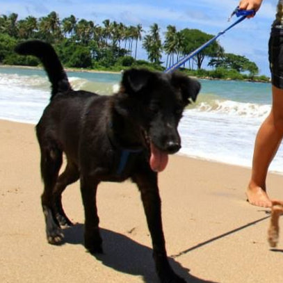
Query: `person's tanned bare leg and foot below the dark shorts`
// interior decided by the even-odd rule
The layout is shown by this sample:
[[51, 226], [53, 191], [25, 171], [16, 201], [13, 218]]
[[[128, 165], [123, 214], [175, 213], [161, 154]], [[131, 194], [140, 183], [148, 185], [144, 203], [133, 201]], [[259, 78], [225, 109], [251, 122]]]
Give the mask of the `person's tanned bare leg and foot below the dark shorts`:
[[246, 195], [250, 204], [271, 207], [266, 193], [266, 175], [283, 136], [283, 89], [273, 86], [273, 106], [261, 124], [254, 144], [252, 177]]

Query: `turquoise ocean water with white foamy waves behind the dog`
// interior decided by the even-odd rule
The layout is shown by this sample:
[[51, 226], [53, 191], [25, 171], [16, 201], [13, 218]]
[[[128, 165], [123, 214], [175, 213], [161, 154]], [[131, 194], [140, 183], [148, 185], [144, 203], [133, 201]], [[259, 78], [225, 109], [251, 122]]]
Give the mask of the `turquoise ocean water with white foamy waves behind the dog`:
[[[75, 90], [110, 95], [121, 75], [68, 72]], [[200, 80], [197, 102], [179, 124], [179, 154], [251, 167], [254, 139], [270, 111], [268, 83]], [[42, 70], [0, 67], [0, 119], [36, 124], [49, 102], [50, 83]], [[270, 170], [283, 173], [283, 148]]]

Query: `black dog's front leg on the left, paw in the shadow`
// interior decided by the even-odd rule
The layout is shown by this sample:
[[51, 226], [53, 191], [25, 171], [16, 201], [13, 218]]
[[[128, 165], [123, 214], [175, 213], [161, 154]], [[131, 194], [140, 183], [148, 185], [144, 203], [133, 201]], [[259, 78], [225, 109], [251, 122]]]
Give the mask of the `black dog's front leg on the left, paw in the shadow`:
[[99, 182], [93, 178], [81, 177], [81, 196], [85, 210], [85, 247], [92, 253], [102, 253], [102, 238], [99, 233], [99, 217], [97, 215], [97, 186]]

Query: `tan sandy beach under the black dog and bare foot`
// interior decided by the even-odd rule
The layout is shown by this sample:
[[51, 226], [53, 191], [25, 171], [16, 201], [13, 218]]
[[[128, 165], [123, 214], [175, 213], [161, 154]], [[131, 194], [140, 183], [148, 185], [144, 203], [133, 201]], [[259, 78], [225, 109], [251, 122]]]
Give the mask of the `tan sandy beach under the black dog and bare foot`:
[[[64, 230], [65, 244], [49, 245], [34, 126], [1, 120], [0, 132], [0, 282], [158, 282], [134, 184], [99, 186], [104, 255], [83, 247], [78, 182], [63, 194], [76, 225]], [[283, 235], [271, 250], [270, 209], [245, 201], [249, 176], [250, 168], [185, 156], [171, 156], [159, 175], [170, 264], [187, 282], [283, 281]], [[282, 184], [282, 175], [268, 175], [271, 197], [283, 200]]]

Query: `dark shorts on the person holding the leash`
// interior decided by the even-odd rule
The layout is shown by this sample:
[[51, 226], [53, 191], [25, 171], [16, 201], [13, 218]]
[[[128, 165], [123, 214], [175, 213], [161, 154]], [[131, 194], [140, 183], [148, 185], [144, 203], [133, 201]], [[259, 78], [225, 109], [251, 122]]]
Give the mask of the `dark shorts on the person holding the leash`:
[[283, 89], [283, 29], [273, 27], [268, 42], [269, 65], [273, 86]]

